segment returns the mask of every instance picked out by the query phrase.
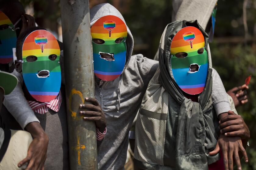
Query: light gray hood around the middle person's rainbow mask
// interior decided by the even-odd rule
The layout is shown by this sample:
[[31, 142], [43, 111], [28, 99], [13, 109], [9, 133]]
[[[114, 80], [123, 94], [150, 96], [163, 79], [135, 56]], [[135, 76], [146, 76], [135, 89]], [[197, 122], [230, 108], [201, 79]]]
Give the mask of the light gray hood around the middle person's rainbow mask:
[[[107, 16], [107, 15], [114, 15], [118, 18], [120, 18], [126, 25], [126, 22], [122, 16], [122, 14], [112, 5], [109, 3], [103, 3], [94, 6], [90, 9], [90, 21], [91, 26], [98, 21], [101, 17]], [[126, 66], [128, 65], [130, 58], [132, 56], [133, 51], [133, 36], [130, 32], [130, 29], [126, 25], [127, 28], [127, 38], [126, 38], [126, 62], [123, 71], [125, 70]], [[122, 71], [122, 73], [123, 73]]]

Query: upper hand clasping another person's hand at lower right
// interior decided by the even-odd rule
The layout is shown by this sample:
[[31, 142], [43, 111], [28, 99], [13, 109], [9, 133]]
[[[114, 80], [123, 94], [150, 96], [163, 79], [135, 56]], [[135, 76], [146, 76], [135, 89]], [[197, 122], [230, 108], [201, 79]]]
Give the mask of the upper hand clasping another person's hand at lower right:
[[219, 121], [220, 133], [225, 134], [225, 136], [228, 137], [239, 136], [242, 141], [244, 140], [245, 143], [247, 143], [250, 138], [250, 131], [244, 122], [244, 119], [233, 111], [228, 111], [228, 114], [228, 116]]

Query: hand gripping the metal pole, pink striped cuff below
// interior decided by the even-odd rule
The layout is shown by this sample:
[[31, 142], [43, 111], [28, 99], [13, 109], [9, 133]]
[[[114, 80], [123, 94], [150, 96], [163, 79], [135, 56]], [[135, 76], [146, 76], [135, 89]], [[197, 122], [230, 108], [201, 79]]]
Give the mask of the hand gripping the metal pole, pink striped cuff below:
[[96, 127], [103, 133], [106, 127], [106, 117], [101, 109], [101, 105], [95, 98], [86, 97], [85, 101], [91, 104], [80, 104], [80, 109], [83, 109], [83, 111], [80, 111], [80, 114], [84, 116], [85, 121], [95, 121]]

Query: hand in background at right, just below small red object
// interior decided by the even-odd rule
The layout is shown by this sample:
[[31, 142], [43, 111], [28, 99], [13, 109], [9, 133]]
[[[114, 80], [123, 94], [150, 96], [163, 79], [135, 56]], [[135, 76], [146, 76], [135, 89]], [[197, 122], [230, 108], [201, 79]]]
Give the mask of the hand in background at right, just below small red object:
[[243, 105], [248, 102], [247, 91], [249, 87], [246, 84], [243, 84], [239, 87], [234, 87], [233, 89], [227, 91], [227, 94], [232, 97], [235, 107]]

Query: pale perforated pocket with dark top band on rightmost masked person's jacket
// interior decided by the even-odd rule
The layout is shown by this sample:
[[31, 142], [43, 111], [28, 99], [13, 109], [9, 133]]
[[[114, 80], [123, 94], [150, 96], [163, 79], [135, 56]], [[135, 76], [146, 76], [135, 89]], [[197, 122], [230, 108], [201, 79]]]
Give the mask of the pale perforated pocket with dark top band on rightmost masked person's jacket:
[[135, 159], [150, 164], [164, 165], [167, 115], [140, 109], [135, 128]]

